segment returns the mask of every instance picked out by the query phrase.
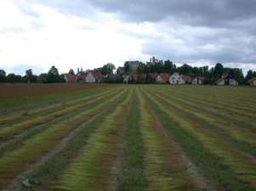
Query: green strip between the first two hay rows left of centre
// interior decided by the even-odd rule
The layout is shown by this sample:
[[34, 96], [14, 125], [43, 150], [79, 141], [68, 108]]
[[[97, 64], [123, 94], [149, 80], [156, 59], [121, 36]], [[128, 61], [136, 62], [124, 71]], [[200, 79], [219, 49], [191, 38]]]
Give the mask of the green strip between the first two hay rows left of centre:
[[[97, 128], [105, 121], [106, 117], [111, 115], [111, 111], [116, 110], [117, 105], [122, 103], [123, 98], [127, 95], [117, 98], [116, 102], [106, 108], [100, 115], [95, 115], [94, 119], [87, 124], [79, 126], [78, 131], [65, 141], [63, 148], [54, 153], [54, 155], [43, 163], [35, 166], [33, 171], [27, 172], [20, 177], [19, 181], [14, 184], [15, 190], [52, 190], [58, 177], [63, 173], [65, 168], [76, 158], [84, 145], [88, 143], [88, 138]], [[23, 182], [31, 184], [27, 188]]]

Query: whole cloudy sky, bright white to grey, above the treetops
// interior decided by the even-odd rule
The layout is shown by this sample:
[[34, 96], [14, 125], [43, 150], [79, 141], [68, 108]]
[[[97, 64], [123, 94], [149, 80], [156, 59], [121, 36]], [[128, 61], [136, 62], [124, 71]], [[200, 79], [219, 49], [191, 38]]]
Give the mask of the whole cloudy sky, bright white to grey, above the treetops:
[[256, 70], [255, 0], [0, 0], [0, 69], [147, 61]]

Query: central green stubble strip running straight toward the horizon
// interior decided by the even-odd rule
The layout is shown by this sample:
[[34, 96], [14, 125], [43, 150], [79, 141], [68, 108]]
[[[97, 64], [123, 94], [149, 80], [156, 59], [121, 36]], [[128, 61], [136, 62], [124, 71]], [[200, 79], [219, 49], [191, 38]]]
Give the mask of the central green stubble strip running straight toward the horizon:
[[138, 90], [133, 94], [130, 110], [127, 113], [125, 132], [122, 136], [122, 157], [118, 173], [118, 191], [143, 191], [145, 190], [144, 160], [145, 148], [139, 128]]

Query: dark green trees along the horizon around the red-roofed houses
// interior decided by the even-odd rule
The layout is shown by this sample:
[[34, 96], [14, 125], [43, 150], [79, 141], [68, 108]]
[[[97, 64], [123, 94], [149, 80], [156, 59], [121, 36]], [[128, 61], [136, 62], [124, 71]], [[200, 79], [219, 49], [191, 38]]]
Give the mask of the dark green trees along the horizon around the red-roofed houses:
[[[128, 65], [128, 62], [125, 62], [123, 65], [123, 74], [131, 74], [134, 71]], [[108, 63], [103, 65], [100, 68], [94, 69], [94, 71], [100, 72], [102, 75], [113, 75], [114, 70], [116, 69], [115, 65]], [[180, 75], [185, 76], [202, 76], [204, 77], [205, 84], [214, 84], [221, 76], [230, 75], [239, 84], [247, 84], [247, 81], [253, 77], [256, 77], [256, 71], [248, 70], [247, 75], [244, 76], [242, 73], [242, 69], [239, 68], [230, 68], [224, 67], [222, 64], [217, 63], [214, 67], [209, 68], [208, 66], [196, 67], [191, 65], [181, 65], [177, 66], [170, 60], [166, 60], [162, 63], [156, 63], [155, 65], [145, 65], [140, 62], [139, 67], [135, 71], [138, 75], [142, 74], [150, 74], [150, 73], [168, 73], [174, 74], [174, 72], [178, 72]], [[74, 70], [69, 70], [69, 74], [75, 75]], [[113, 79], [106, 79], [105, 82], [122, 82], [122, 76], [114, 76]], [[25, 76], [15, 75], [14, 73], [6, 74], [4, 70], [0, 70], [0, 82], [26, 82], [26, 83], [34, 83], [34, 82], [43, 82], [43, 83], [55, 83], [55, 82], [65, 82], [64, 76], [59, 74], [59, 70], [53, 65], [48, 73], [42, 73], [39, 76], [33, 74], [32, 70], [26, 70]], [[153, 79], [148, 79], [146, 82], [153, 82]]]

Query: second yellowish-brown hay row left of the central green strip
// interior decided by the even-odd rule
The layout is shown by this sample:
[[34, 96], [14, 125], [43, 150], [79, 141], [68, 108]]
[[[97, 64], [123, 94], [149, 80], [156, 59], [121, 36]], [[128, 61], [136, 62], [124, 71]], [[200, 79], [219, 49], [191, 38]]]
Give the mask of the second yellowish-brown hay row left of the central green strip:
[[60, 140], [76, 129], [77, 126], [109, 107], [123, 93], [125, 93], [124, 90], [105, 103], [98, 104], [90, 110], [85, 110], [71, 119], [48, 126], [45, 131], [26, 140], [19, 149], [4, 154], [0, 158], [0, 188], [11, 182], [14, 177], [25, 171], [28, 166], [37, 162], [43, 154], [54, 149], [54, 146], [60, 143]]

